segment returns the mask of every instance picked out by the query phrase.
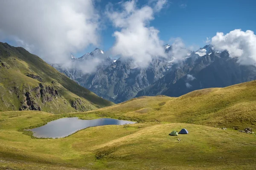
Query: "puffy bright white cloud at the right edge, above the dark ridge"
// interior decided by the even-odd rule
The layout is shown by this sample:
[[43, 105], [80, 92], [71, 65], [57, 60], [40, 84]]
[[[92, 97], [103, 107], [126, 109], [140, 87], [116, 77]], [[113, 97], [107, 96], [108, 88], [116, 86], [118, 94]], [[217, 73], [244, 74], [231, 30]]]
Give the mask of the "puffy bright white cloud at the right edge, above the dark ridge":
[[227, 50], [230, 57], [238, 57], [238, 62], [243, 65], [256, 64], [256, 35], [253, 31], [235, 29], [228, 34], [217, 32], [212, 37], [215, 50]]

